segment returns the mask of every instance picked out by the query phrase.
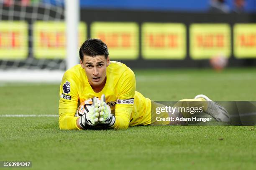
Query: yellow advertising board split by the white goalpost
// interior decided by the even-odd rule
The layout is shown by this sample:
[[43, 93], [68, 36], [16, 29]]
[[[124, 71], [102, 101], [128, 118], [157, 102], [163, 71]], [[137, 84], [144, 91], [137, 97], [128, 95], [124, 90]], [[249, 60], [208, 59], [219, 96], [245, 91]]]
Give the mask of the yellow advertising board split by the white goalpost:
[[[87, 26], [80, 23], [78, 47], [87, 38]], [[66, 57], [66, 26], [61, 21], [37, 21], [33, 24], [33, 53], [37, 59], [63, 59]]]

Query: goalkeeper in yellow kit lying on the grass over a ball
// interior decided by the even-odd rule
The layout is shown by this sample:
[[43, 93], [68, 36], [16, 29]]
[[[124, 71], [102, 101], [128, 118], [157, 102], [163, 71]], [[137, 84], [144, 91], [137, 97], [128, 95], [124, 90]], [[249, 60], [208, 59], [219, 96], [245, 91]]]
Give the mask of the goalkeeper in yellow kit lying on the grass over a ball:
[[[163, 105], [151, 102], [136, 91], [136, 80], [133, 71], [121, 62], [111, 61], [108, 47], [100, 39], [86, 40], [79, 50], [80, 64], [67, 70], [60, 85], [59, 128], [65, 130], [82, 130], [100, 125], [112, 129], [127, 129], [135, 125], [171, 125], [183, 122], [156, 121], [151, 114], [156, 107]], [[98, 107], [95, 98], [101, 99]], [[94, 98], [93, 107], [82, 117], [75, 117], [79, 103]], [[205, 95], [195, 99], [181, 100], [182, 107], [204, 105], [204, 112], [218, 121], [229, 121], [227, 112]], [[180, 114], [180, 113], [178, 113]], [[168, 112], [161, 117], [179, 116]], [[182, 113], [182, 116], [189, 117]]]

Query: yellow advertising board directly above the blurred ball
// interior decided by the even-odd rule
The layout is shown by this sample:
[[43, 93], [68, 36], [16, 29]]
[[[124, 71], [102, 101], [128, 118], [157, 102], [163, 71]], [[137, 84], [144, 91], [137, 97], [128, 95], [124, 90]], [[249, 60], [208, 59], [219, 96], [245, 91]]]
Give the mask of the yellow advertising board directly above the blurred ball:
[[191, 24], [189, 33], [189, 53], [192, 59], [209, 59], [216, 55], [230, 57], [229, 24]]

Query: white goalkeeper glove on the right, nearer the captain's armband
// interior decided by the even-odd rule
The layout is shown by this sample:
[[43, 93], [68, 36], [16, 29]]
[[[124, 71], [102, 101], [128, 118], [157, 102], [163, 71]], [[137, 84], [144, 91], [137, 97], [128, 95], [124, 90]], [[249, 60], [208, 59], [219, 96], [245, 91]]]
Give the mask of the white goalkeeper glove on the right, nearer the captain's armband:
[[101, 95], [100, 97], [100, 118], [99, 122], [108, 127], [111, 127], [115, 124], [115, 116], [111, 114], [111, 109], [109, 105], [106, 103], [105, 95]]

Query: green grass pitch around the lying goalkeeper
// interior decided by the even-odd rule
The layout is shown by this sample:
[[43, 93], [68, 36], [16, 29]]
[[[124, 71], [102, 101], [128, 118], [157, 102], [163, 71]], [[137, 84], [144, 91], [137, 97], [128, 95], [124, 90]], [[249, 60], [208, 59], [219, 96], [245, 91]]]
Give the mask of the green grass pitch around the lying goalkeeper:
[[[205, 94], [256, 100], [256, 69], [134, 70], [136, 90], [151, 100]], [[58, 114], [59, 84], [0, 82], [0, 115]], [[139, 126], [59, 130], [58, 117], [0, 117], [0, 161], [26, 169], [254, 169], [255, 126]], [[11, 168], [8, 168], [11, 169]]]

